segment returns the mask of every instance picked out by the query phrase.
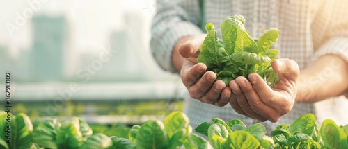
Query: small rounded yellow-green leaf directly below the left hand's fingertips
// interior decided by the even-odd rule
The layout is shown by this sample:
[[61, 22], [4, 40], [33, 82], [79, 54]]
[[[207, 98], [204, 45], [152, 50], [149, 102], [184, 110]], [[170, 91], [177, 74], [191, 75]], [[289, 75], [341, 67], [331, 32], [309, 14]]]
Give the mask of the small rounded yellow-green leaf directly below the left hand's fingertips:
[[228, 137], [226, 126], [221, 123], [214, 123], [208, 129], [208, 138], [215, 149], [222, 148], [223, 143]]

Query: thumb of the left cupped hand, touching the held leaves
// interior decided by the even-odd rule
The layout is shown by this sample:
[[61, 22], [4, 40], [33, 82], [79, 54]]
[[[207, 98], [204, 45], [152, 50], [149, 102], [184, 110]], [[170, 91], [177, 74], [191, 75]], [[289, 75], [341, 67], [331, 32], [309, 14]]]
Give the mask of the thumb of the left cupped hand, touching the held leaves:
[[191, 56], [197, 57], [200, 51], [200, 46], [206, 35], [195, 35], [190, 37], [186, 42], [179, 46], [179, 53], [184, 58]]

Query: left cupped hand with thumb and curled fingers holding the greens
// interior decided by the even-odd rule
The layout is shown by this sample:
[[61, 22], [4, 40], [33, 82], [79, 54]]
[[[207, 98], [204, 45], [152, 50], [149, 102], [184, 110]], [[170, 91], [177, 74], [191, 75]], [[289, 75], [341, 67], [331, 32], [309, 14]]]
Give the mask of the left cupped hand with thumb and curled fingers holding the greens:
[[[203, 103], [216, 106], [227, 105], [230, 100], [231, 90], [221, 80], [216, 80], [216, 74], [207, 71], [207, 66], [197, 62], [200, 46], [206, 35], [192, 36], [180, 44], [178, 50], [184, 58], [180, 76], [192, 98]], [[205, 73], [204, 73], [205, 72]]]

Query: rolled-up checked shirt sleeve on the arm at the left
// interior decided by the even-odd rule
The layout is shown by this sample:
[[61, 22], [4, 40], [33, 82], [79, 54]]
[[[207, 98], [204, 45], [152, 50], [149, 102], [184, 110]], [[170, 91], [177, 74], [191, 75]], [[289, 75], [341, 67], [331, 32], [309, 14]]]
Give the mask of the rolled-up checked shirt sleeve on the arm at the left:
[[198, 0], [157, 1], [157, 15], [152, 20], [151, 51], [160, 67], [177, 73], [171, 54], [177, 40], [203, 33], [200, 24]]

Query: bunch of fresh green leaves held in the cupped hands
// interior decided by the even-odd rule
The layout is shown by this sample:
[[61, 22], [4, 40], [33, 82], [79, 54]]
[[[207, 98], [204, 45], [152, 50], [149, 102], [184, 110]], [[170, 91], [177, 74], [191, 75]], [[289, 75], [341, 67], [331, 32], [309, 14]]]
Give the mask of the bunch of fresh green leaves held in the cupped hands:
[[269, 86], [275, 85], [279, 78], [271, 68], [278, 51], [269, 49], [278, 39], [278, 30], [264, 31], [253, 39], [244, 27], [242, 15], [226, 17], [221, 24], [222, 40], [212, 23], [205, 26], [207, 37], [203, 41], [197, 61], [207, 65], [207, 71], [216, 73], [216, 80], [223, 80], [226, 85], [238, 76], [248, 77], [258, 73]]

